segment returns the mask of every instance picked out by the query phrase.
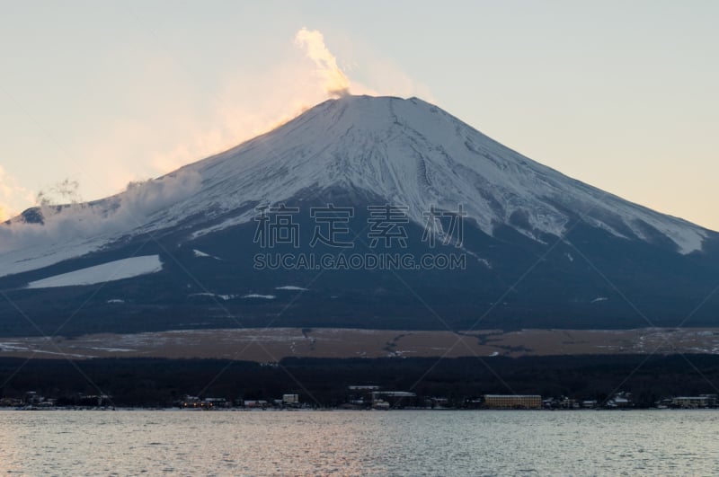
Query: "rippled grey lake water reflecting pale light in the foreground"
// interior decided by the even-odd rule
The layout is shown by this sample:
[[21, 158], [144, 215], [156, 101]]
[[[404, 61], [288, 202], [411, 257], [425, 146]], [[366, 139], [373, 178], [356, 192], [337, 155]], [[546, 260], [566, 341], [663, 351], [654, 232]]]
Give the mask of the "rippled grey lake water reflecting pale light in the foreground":
[[21, 475], [716, 475], [719, 411], [0, 411]]

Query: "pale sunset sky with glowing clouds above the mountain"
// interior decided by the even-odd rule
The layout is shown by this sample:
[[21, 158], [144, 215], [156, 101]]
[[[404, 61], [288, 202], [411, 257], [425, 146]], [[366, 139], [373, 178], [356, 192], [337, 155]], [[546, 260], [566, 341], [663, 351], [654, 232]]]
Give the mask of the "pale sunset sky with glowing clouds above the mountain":
[[40, 192], [117, 193], [349, 91], [421, 97], [539, 163], [719, 230], [719, 2], [0, 11], [0, 219]]

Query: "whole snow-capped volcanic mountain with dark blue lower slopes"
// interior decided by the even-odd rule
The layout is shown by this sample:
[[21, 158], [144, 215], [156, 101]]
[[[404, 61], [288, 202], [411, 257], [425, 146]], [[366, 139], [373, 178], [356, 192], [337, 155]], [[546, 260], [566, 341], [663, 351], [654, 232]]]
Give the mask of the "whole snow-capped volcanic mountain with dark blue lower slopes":
[[[450, 211], [459, 210], [462, 240], [439, 240], [437, 250], [466, 254], [469, 260], [453, 273], [423, 267], [385, 273], [333, 269], [324, 270], [324, 278], [315, 278], [316, 270], [253, 266], [261, 248], [258, 207], [297, 208], [303, 240], [293, 247], [308, 254], [316, 252], [309, 246], [315, 238], [310, 234], [329, 226], [326, 220], [318, 224], [309, 209], [327, 204], [351, 208], [351, 224], [349, 219], [343, 224], [354, 235], [367, 228], [370, 233], [406, 229], [399, 237], [406, 240], [386, 241], [387, 251], [420, 255], [429, 250], [430, 235], [444, 239], [452, 233], [451, 224], [433, 220], [430, 212], [451, 217]], [[379, 224], [373, 216], [379, 206], [401, 208], [405, 221]], [[430, 230], [430, 224], [438, 226]], [[377, 235], [364, 236], [366, 242], [373, 238]], [[84, 269], [94, 267], [94, 273], [102, 264], [151, 252], [164, 263], [160, 269], [136, 275], [119, 271], [123, 279], [95, 282], [97, 295], [118, 295], [103, 304], [134, 303], [122, 313], [131, 309], [150, 316], [164, 315], [163, 307], [173, 313], [183, 307], [196, 316], [218, 306], [217, 300], [199, 303], [198, 296], [227, 296], [232, 298], [219, 305], [226, 315], [260, 320], [289, 304], [292, 312], [276, 319], [287, 324], [294, 316], [303, 325], [355, 321], [357, 326], [369, 316], [375, 326], [390, 320], [413, 327], [411, 315], [438, 314], [435, 307], [452, 314], [447, 322], [453, 327], [473, 325], [479, 317], [493, 325], [587, 319], [595, 326], [631, 316], [626, 324], [635, 325], [636, 305], [626, 310], [627, 293], [636, 292], [647, 313], [656, 309], [664, 322], [679, 321], [713, 279], [719, 282], [717, 238], [536, 163], [430, 103], [349, 96], [117, 196], [26, 211], [0, 226], [0, 289], [36, 300], [42, 280], [63, 275], [50, 282], [65, 284], [67, 274], [86, 276]], [[295, 281], [288, 285], [287, 278]], [[93, 285], [84, 280], [84, 287]], [[35, 285], [25, 288], [30, 283]], [[65, 287], [71, 290], [67, 294], [84, 296], [82, 284]], [[285, 299], [276, 290], [283, 286], [297, 289], [291, 295], [285, 290]], [[146, 289], [139, 293], [138, 287]], [[153, 289], [152, 296], [144, 295]], [[133, 298], [132, 290], [139, 295]], [[425, 303], [412, 303], [417, 290], [427, 297], [421, 300]], [[258, 296], [271, 305], [255, 303]], [[495, 303], [500, 299], [501, 306]], [[327, 316], [313, 322], [310, 308]], [[488, 309], [496, 319], [486, 319]], [[172, 327], [160, 321], [158, 326]], [[427, 326], [427, 320], [416, 322]]]

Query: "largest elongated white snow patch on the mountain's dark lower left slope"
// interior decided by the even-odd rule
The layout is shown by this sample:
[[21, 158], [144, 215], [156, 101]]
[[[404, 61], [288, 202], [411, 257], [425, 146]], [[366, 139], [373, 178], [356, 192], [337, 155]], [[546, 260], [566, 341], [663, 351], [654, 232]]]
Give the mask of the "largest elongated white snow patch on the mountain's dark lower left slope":
[[28, 288], [75, 287], [138, 277], [163, 269], [159, 255], [144, 255], [77, 269], [54, 277], [32, 281]]

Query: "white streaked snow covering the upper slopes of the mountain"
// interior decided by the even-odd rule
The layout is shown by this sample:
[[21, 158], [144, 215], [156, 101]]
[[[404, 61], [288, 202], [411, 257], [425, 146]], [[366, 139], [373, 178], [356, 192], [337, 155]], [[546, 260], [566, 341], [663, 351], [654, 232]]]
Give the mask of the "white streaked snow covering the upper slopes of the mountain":
[[[229, 216], [193, 236], [209, 234], [251, 221], [256, 203], [309, 200], [330, 188], [364, 190], [388, 204], [408, 206], [410, 218], [422, 225], [422, 213], [431, 206], [457, 210], [462, 204], [486, 234], [510, 225], [535, 240], [541, 240], [540, 234], [563, 234], [575, 217], [627, 239], [667, 237], [681, 253], [701, 250], [708, 233], [536, 163], [430, 103], [349, 96], [323, 102], [268, 134], [100, 201], [89, 208], [93, 220], [84, 212], [84, 224], [93, 226], [83, 229], [82, 249], [68, 251], [67, 241], [53, 243], [51, 237], [22, 252], [4, 248], [3, 237], [20, 226], [0, 226], [0, 276], [32, 269], [28, 260], [40, 255], [49, 264], [188, 217], [209, 222]], [[72, 222], [73, 213], [68, 209], [58, 216]]]

